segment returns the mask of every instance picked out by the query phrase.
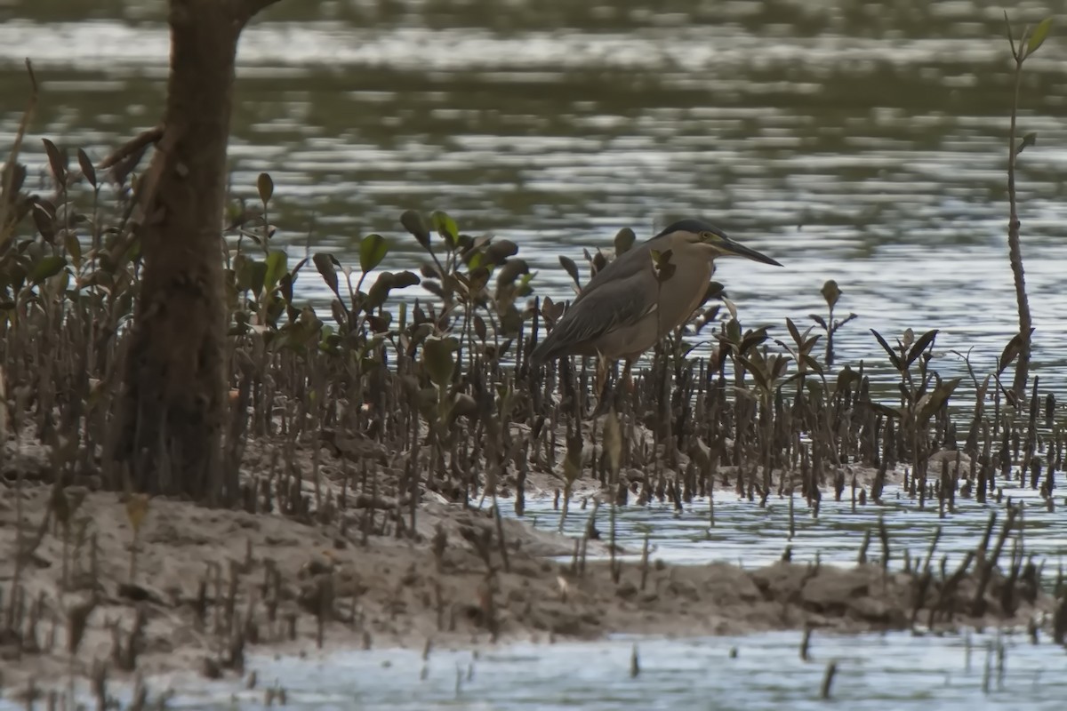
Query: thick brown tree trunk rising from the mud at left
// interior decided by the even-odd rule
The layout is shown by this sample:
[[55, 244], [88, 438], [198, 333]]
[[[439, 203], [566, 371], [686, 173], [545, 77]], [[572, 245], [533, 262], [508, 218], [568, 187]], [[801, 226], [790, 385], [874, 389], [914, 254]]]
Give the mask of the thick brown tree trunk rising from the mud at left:
[[272, 0], [171, 0], [163, 133], [138, 189], [144, 268], [120, 401], [115, 459], [134, 490], [209, 505], [224, 472], [222, 215], [237, 42]]

